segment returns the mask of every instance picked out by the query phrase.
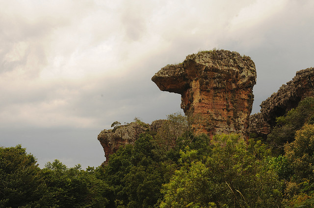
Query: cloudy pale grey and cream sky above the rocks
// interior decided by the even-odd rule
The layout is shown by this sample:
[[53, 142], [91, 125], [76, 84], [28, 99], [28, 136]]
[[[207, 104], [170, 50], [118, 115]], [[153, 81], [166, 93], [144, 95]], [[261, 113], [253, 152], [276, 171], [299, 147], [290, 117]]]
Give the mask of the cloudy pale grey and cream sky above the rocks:
[[250, 56], [252, 113], [314, 67], [313, 0], [0, 0], [0, 146], [40, 167], [105, 161], [97, 135], [114, 121], [181, 111], [151, 77], [212, 48]]

